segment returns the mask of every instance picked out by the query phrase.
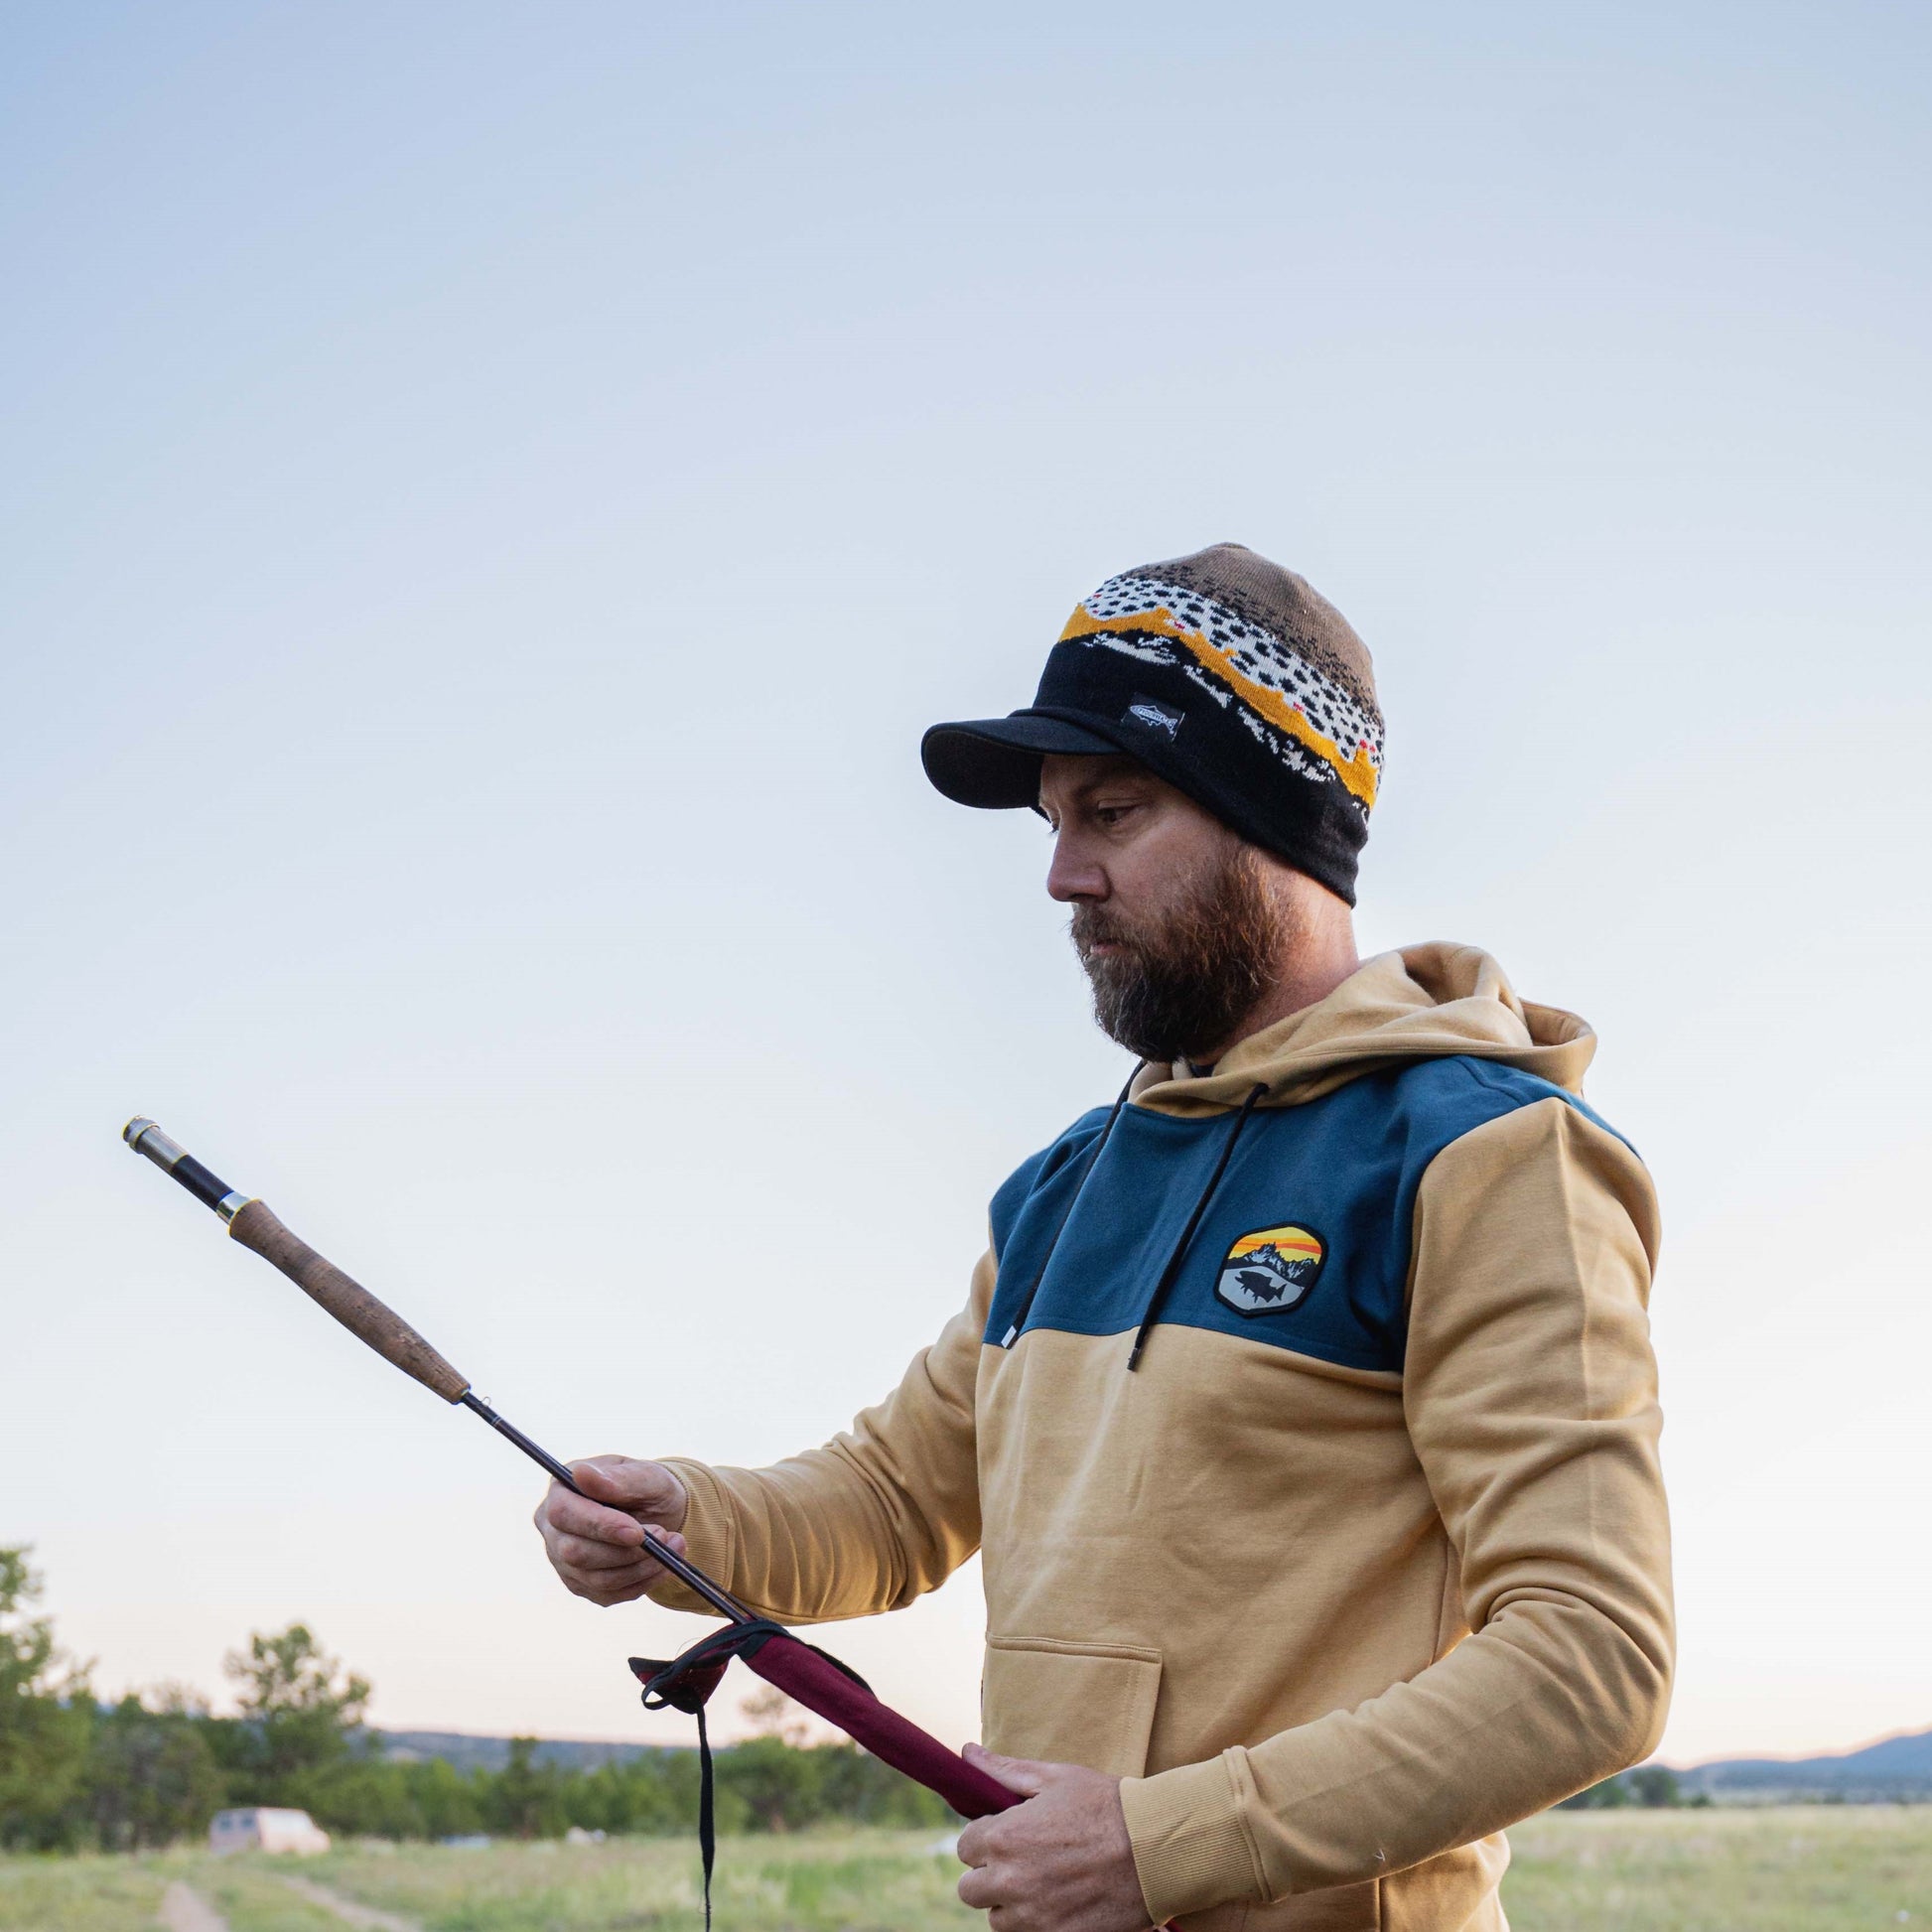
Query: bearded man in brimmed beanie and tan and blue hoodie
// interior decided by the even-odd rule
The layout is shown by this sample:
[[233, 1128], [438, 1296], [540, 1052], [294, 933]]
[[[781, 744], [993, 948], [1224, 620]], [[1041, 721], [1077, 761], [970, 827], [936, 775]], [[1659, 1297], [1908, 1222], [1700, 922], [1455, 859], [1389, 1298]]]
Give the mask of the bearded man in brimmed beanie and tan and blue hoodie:
[[[1358, 964], [1368, 651], [1240, 549], [1113, 578], [931, 781], [1037, 806], [1142, 1061], [995, 1194], [966, 1310], [767, 1470], [578, 1464], [599, 1604], [898, 1607], [985, 1551], [960, 1837], [995, 1932], [1501, 1928], [1501, 1828], [1646, 1756], [1671, 1667], [1656, 1206], [1590, 1030], [1493, 960]], [[978, 1750], [978, 1747], [970, 1747]], [[995, 1754], [997, 1752], [997, 1754]]]

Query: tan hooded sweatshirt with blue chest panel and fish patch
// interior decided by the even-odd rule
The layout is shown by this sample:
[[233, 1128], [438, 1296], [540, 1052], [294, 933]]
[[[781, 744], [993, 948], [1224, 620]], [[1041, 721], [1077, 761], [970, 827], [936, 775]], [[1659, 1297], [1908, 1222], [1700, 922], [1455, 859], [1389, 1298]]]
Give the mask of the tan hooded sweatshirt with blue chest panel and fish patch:
[[887, 1401], [670, 1464], [692, 1557], [821, 1621], [983, 1549], [985, 1741], [1124, 1779], [1153, 1924], [1501, 1928], [1501, 1828], [1646, 1756], [1671, 1671], [1656, 1200], [1594, 1045], [1428, 945], [1142, 1068]]

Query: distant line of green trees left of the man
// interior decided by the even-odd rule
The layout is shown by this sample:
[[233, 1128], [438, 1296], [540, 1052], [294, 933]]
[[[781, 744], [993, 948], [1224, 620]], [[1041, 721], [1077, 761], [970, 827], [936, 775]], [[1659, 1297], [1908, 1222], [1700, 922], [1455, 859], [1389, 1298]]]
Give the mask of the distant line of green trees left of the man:
[[[238, 1716], [164, 1685], [118, 1704], [95, 1698], [52, 1623], [29, 1613], [39, 1578], [25, 1549], [0, 1549], [0, 1847], [133, 1851], [207, 1830], [230, 1804], [294, 1804], [330, 1832], [437, 1839], [487, 1832], [690, 1832], [697, 1754], [653, 1750], [574, 1770], [537, 1762], [514, 1739], [508, 1764], [458, 1770], [442, 1758], [383, 1754], [363, 1729], [369, 1685], [327, 1656], [299, 1623], [230, 1654]], [[748, 1706], [753, 1708], [753, 1706]], [[767, 1696], [761, 1719], [782, 1727]], [[753, 1737], [717, 1754], [719, 1828], [788, 1832], [825, 1820], [943, 1824], [922, 1785], [854, 1745], [804, 1748]]]

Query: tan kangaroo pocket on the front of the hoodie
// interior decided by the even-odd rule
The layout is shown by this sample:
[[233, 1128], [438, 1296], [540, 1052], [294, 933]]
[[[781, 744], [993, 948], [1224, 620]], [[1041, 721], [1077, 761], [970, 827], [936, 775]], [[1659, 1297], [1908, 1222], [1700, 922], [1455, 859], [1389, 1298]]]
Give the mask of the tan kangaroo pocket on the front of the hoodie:
[[989, 1636], [980, 1689], [981, 1735], [1009, 1758], [1084, 1764], [1109, 1777], [1148, 1768], [1161, 1654], [1136, 1644]]

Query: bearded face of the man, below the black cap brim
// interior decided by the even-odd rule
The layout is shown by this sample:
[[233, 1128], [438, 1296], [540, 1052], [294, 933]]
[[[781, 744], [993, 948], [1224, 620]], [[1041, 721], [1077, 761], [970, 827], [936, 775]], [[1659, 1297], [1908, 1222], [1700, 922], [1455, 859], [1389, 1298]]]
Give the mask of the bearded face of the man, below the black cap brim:
[[1289, 937], [1254, 852], [1130, 757], [1047, 757], [1039, 810], [1101, 1030], [1148, 1061], [1231, 1045]]

